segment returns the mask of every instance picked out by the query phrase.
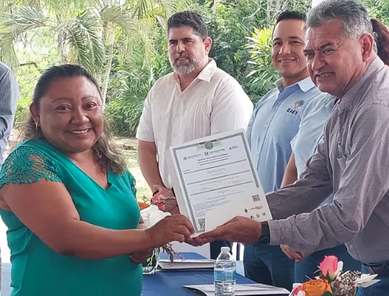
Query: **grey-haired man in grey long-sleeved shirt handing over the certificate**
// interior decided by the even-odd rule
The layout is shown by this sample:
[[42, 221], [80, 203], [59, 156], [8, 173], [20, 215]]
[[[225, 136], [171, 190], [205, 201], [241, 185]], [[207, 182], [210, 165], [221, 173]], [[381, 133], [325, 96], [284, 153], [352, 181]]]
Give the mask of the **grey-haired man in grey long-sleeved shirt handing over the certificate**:
[[260, 240], [308, 254], [346, 243], [362, 272], [380, 280], [358, 296], [389, 295], [389, 68], [357, 1], [311, 9], [306, 41], [312, 80], [339, 99], [323, 141], [294, 184], [267, 194], [272, 221], [236, 217], [199, 239]]

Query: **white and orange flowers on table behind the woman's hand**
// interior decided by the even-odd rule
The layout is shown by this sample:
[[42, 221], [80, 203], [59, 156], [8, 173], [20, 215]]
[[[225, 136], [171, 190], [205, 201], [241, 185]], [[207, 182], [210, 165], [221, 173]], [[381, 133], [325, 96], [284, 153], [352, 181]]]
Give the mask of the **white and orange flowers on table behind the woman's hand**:
[[[161, 208], [164, 208], [164, 203], [166, 203], [166, 201], [168, 201], [169, 199], [171, 198], [164, 198], [164, 196], [159, 196], [159, 198], [154, 199], [154, 201], [151, 202], [151, 204], [138, 201], [138, 205], [139, 208], [141, 209], [141, 215], [144, 221], [144, 225], [147, 228], [154, 226], [154, 224], [159, 222], [161, 219], [171, 215], [171, 213], [165, 213], [161, 211]], [[177, 254], [173, 250], [171, 243], [167, 243], [166, 245], [163, 245], [161, 249], [169, 255], [169, 259], [171, 263], [174, 262], [174, 258], [182, 259], [182, 256], [180, 254]], [[159, 255], [159, 252], [154, 250], [153, 253], [151, 254], [151, 257], [147, 258], [147, 263], [149, 265], [153, 264], [156, 255]]]

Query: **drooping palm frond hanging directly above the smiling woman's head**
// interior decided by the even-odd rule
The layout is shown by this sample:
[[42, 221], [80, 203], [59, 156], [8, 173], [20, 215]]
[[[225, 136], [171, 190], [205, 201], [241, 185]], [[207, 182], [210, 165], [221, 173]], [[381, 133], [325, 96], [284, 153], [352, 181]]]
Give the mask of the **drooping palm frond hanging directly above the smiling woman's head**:
[[105, 48], [101, 37], [102, 26], [95, 11], [85, 11], [76, 18], [60, 23], [58, 43], [60, 48], [70, 46], [76, 63], [84, 65], [92, 73], [102, 73], [105, 64]]

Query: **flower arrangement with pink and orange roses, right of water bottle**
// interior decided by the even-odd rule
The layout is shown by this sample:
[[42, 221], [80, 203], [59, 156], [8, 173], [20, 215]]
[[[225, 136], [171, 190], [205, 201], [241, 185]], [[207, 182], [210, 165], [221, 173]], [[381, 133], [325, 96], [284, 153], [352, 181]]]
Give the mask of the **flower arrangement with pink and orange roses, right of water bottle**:
[[343, 262], [336, 256], [326, 256], [319, 266], [315, 279], [294, 284], [290, 296], [355, 296], [358, 287], [368, 287], [379, 282], [377, 275], [365, 275], [359, 271], [343, 272]]

